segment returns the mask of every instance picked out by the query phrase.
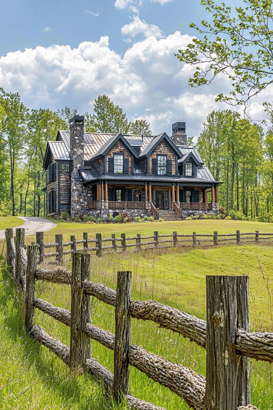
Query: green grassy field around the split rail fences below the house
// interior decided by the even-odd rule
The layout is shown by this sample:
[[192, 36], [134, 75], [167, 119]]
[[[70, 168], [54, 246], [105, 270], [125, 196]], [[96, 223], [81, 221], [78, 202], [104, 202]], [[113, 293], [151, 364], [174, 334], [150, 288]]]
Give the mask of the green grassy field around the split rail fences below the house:
[[[179, 223], [143, 223], [128, 225], [81, 225], [58, 223], [45, 233], [45, 241], [55, 233], [82, 237], [102, 232], [152, 234], [154, 230], [169, 233], [270, 232], [273, 225], [239, 221], [185, 221]], [[27, 237], [27, 240], [32, 238]], [[259, 258], [259, 260], [258, 260]], [[115, 288], [118, 270], [133, 273], [132, 298], [154, 299], [205, 319], [205, 276], [207, 274], [248, 275], [250, 278], [250, 322], [252, 330], [273, 331], [273, 247], [264, 245], [225, 246], [185, 250], [183, 248], [138, 253], [109, 254], [92, 258], [92, 279]], [[261, 262], [262, 271], [259, 267]], [[29, 339], [23, 329], [22, 301], [2, 264], [0, 278], [0, 409], [111, 409], [110, 399], [88, 375], [69, 381], [68, 368], [46, 348]], [[269, 292], [269, 293], [268, 293]], [[268, 296], [269, 294], [269, 296]], [[70, 309], [70, 287], [37, 282], [37, 297]], [[36, 312], [36, 323], [69, 344], [69, 329], [42, 312]], [[92, 300], [92, 322], [114, 331], [113, 308]], [[205, 374], [205, 351], [180, 335], [158, 328], [155, 324], [132, 320], [132, 343], [162, 355], [170, 361]], [[92, 341], [92, 355], [113, 371], [113, 352]], [[273, 408], [272, 366], [251, 362], [253, 404], [260, 410]], [[188, 409], [168, 389], [149, 380], [131, 367], [131, 393], [168, 410]], [[126, 408], [120, 405], [119, 409]]]

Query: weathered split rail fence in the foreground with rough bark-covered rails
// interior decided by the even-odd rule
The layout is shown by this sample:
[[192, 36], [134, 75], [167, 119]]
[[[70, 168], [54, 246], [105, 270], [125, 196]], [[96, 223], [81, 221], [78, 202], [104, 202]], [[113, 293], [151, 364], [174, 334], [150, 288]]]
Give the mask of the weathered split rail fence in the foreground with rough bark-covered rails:
[[[103, 380], [115, 401], [131, 409], [160, 407], [129, 395], [130, 366], [168, 387], [194, 410], [250, 410], [249, 358], [273, 362], [273, 333], [251, 333], [247, 276], [207, 276], [207, 321], [156, 301], [131, 300], [131, 272], [117, 272], [116, 291], [90, 280], [90, 255], [72, 254], [72, 271], [38, 269], [38, 246], [24, 246], [24, 230], [6, 230], [7, 263], [23, 290], [25, 327], [69, 365], [71, 373], [86, 369]], [[70, 311], [35, 296], [36, 281], [70, 285]], [[115, 309], [115, 334], [90, 323], [90, 296]], [[34, 323], [34, 309], [70, 327], [70, 346], [52, 338]], [[206, 378], [192, 369], [131, 344], [131, 318], [150, 320], [206, 349]], [[113, 374], [91, 356], [90, 339], [114, 351]]]

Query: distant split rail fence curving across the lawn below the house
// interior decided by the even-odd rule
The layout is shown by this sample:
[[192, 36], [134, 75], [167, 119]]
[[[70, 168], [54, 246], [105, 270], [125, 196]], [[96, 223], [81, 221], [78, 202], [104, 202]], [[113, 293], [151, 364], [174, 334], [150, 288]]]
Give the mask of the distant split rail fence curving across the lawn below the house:
[[[20, 228], [23, 229], [23, 228]], [[182, 247], [209, 247], [231, 244], [273, 244], [273, 233], [244, 232], [239, 230], [236, 233], [219, 234], [214, 231], [213, 234], [178, 234], [174, 231], [172, 234], [160, 235], [154, 231], [153, 235], [141, 236], [137, 234], [133, 237], [126, 237], [125, 233], [120, 238], [112, 234], [111, 238], [102, 238], [102, 234], [97, 233], [95, 238], [88, 238], [88, 233], [83, 232], [83, 239], [76, 240], [74, 235], [70, 236], [69, 242], [63, 241], [63, 235], [55, 235], [55, 242], [44, 243], [43, 232], [36, 232], [36, 244], [39, 250], [38, 263], [45, 260], [49, 264], [61, 264], [68, 258], [65, 256], [78, 252], [90, 253], [101, 257], [109, 252], [122, 253], [131, 250], [149, 250], [156, 248], [171, 248], [173, 246]], [[82, 244], [82, 248], [77, 248]], [[65, 249], [70, 248], [70, 249]], [[48, 251], [48, 252], [45, 252]]]

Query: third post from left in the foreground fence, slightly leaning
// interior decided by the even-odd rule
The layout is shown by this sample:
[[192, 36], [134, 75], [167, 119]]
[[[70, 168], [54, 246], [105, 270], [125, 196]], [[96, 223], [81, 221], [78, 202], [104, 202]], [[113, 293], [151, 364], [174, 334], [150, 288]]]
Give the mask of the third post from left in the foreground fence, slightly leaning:
[[27, 246], [27, 270], [25, 289], [25, 327], [28, 332], [34, 325], [34, 298], [35, 298], [35, 273], [37, 266], [37, 246]]

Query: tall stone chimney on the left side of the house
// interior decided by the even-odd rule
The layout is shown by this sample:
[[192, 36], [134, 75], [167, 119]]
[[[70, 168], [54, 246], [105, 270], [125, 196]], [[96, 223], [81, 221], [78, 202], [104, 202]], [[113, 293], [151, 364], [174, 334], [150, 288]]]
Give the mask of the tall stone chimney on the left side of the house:
[[71, 172], [71, 216], [83, 215], [87, 207], [85, 189], [79, 175], [79, 167], [83, 166], [83, 124], [84, 117], [75, 115], [69, 121]]

